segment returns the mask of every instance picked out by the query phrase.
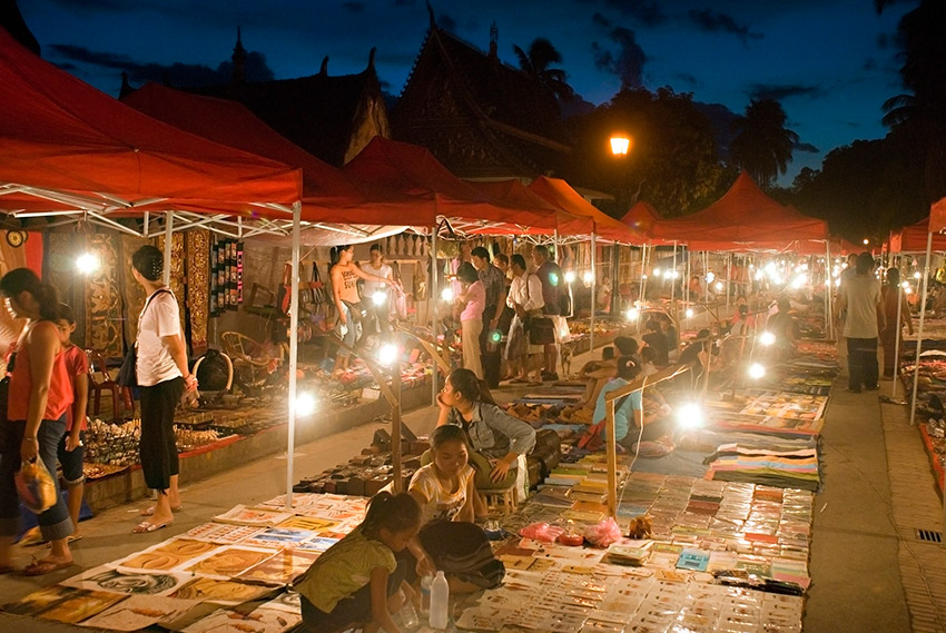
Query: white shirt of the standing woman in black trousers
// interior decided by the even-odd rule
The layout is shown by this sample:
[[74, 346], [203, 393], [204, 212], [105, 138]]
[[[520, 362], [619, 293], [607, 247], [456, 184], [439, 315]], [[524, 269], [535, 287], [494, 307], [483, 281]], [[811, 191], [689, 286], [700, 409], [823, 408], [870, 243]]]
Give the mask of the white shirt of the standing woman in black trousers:
[[138, 318], [138, 384], [152, 387], [180, 376], [180, 369], [165, 345], [165, 336], [180, 335], [180, 310], [175, 296], [156, 290]]

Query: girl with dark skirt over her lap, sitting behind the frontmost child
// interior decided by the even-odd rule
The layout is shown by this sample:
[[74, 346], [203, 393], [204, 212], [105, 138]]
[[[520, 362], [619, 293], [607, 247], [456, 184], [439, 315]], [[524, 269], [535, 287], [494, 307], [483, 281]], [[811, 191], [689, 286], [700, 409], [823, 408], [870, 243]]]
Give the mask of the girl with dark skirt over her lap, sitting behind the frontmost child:
[[[438, 426], [431, 446], [433, 462], [418, 468], [407, 487], [422, 510], [421, 532], [410, 551], [444, 572], [451, 594], [495, 587], [505, 567], [493, 556], [483, 528], [473, 523], [475, 473], [467, 461], [466, 433], [455, 424]], [[408, 578], [416, 566], [408, 561]]]

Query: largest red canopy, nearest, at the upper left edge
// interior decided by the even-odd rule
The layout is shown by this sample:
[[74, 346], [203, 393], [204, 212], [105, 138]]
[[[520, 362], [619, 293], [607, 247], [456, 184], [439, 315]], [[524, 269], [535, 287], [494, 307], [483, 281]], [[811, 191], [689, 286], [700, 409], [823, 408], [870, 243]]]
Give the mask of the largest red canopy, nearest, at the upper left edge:
[[[0, 207], [167, 210], [288, 205], [299, 170], [156, 121], [36, 57], [0, 29]], [[269, 211], [285, 215], [285, 211]]]

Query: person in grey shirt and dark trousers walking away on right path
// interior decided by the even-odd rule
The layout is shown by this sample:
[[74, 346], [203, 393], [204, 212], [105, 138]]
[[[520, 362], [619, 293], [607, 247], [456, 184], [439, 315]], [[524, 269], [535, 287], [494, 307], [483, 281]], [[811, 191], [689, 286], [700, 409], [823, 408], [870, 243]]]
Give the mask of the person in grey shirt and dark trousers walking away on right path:
[[838, 311], [846, 313], [844, 336], [848, 353], [848, 390], [860, 393], [861, 387], [879, 388], [877, 338], [886, 329], [886, 316], [880, 309], [880, 281], [874, 275], [874, 257], [857, 256], [855, 275], [841, 284]]

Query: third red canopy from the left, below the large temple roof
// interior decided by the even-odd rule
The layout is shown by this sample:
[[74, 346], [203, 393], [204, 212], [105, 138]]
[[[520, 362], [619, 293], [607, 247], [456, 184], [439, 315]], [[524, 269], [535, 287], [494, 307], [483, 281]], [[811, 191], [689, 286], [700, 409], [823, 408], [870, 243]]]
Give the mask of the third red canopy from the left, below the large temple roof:
[[[430, 150], [416, 145], [376, 136], [342, 171], [355, 180], [375, 182], [418, 200], [434, 200], [436, 212], [447, 218], [551, 229], [555, 226], [548, 208], [496, 200], [451, 174]], [[413, 210], [407, 212], [408, 224], [421, 224]]]

